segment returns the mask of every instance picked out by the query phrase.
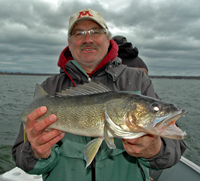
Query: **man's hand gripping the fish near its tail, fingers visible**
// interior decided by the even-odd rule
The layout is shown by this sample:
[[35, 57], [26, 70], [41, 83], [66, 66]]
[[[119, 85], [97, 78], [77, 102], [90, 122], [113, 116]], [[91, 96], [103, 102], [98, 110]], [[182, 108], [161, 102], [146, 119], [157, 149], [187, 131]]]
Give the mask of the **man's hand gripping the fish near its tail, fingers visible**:
[[56, 121], [55, 115], [50, 115], [44, 120], [36, 120], [47, 112], [46, 107], [40, 107], [30, 113], [27, 118], [25, 132], [31, 144], [33, 153], [38, 158], [48, 158], [51, 155], [51, 147], [64, 137], [64, 132], [58, 130], [45, 131]]

